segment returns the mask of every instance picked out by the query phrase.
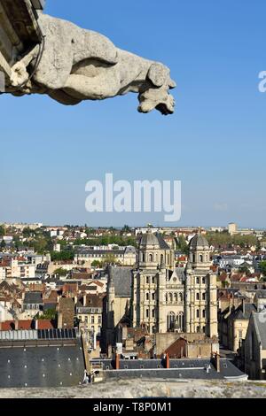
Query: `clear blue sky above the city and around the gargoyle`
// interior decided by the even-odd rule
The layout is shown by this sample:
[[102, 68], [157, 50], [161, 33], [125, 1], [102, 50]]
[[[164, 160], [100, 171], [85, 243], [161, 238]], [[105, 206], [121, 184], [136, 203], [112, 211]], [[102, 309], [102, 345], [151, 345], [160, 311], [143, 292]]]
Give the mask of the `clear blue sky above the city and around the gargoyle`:
[[165, 225], [163, 214], [85, 211], [85, 184], [182, 181], [175, 225], [265, 227], [266, 3], [257, 0], [47, 0], [46, 12], [159, 60], [176, 113], [137, 112], [137, 96], [66, 107], [1, 96], [0, 222]]

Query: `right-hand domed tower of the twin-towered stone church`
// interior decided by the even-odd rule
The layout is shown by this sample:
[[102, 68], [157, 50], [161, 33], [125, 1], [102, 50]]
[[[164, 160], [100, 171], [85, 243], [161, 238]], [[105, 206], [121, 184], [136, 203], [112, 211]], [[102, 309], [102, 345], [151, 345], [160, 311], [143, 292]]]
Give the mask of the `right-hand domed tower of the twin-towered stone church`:
[[208, 337], [218, 335], [216, 275], [211, 264], [209, 245], [199, 232], [191, 240], [185, 272], [185, 331]]

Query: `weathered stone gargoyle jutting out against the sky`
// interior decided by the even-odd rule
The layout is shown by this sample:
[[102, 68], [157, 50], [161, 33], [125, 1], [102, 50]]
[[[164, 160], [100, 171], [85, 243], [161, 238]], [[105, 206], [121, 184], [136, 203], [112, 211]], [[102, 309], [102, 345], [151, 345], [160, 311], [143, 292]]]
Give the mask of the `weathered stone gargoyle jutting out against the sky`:
[[61, 104], [138, 93], [139, 112], [172, 114], [176, 83], [167, 66], [120, 50], [106, 36], [40, 14], [43, 44], [12, 66], [8, 92], [47, 94]]

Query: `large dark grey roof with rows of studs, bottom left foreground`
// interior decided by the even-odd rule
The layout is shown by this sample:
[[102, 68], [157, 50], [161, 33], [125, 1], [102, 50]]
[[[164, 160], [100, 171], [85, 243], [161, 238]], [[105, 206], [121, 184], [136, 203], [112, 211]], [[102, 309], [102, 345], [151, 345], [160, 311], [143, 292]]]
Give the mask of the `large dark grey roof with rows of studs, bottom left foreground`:
[[0, 347], [0, 388], [72, 387], [83, 381], [84, 358], [75, 344]]

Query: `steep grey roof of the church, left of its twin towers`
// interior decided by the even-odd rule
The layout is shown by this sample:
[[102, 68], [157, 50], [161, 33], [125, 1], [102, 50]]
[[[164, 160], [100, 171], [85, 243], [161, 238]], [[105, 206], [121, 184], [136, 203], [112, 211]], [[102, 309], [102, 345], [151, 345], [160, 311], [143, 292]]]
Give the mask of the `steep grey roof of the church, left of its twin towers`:
[[112, 276], [115, 289], [115, 296], [130, 297], [131, 296], [131, 279], [132, 273], [129, 267], [108, 268], [109, 279]]

